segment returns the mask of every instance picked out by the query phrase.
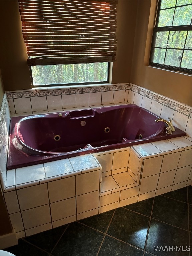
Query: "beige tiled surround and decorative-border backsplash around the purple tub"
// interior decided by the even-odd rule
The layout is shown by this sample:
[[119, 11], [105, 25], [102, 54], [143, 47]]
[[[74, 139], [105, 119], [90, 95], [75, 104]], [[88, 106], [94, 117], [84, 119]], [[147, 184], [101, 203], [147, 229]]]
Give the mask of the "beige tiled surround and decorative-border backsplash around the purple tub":
[[[6, 97], [1, 111], [0, 177], [18, 238], [191, 184], [189, 106], [132, 84], [8, 92], [13, 115], [135, 103], [162, 118], [173, 118], [173, 125], [187, 136], [6, 171], [10, 118]], [[82, 99], [84, 106], [80, 106]]]

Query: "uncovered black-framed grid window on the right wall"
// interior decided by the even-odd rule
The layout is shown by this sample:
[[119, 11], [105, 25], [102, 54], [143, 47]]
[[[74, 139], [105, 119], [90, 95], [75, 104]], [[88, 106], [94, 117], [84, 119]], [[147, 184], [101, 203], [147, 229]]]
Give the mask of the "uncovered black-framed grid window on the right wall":
[[191, 74], [192, 0], [159, 0], [149, 65]]

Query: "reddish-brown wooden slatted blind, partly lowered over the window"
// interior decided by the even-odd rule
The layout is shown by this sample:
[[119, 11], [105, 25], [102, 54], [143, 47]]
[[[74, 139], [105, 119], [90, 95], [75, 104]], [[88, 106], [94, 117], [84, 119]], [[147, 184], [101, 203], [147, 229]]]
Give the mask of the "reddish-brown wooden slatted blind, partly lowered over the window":
[[29, 66], [115, 60], [117, 1], [18, 2]]

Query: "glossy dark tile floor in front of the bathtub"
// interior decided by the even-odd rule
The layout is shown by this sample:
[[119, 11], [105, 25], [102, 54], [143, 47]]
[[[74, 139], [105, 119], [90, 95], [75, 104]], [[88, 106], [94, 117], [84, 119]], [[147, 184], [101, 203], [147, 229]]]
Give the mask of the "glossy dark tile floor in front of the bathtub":
[[19, 239], [5, 250], [16, 256], [190, 256], [191, 194], [191, 186], [178, 189]]

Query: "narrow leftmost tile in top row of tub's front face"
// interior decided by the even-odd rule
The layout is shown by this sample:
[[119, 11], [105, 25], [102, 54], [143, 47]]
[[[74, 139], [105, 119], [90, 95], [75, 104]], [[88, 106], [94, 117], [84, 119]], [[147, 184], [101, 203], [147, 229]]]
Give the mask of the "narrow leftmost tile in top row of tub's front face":
[[16, 191], [4, 193], [4, 198], [9, 214], [20, 211]]

